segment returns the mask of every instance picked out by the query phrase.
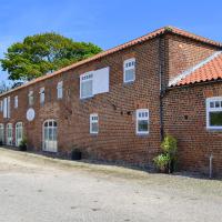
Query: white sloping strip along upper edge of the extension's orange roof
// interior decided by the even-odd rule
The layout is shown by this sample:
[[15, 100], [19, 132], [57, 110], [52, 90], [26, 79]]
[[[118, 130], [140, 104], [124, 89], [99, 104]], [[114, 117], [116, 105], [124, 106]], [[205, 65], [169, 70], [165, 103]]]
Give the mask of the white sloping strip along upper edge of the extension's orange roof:
[[221, 53], [222, 53], [222, 51], [216, 51], [213, 54], [211, 54], [210, 57], [208, 57], [206, 59], [204, 59], [201, 62], [199, 62], [198, 64], [195, 64], [194, 67], [191, 67], [188, 70], [183, 71], [182, 73], [178, 74], [175, 78], [173, 78], [172, 80], [169, 81], [169, 87], [176, 85], [176, 83], [179, 83], [181, 80], [183, 80], [188, 75], [192, 74], [195, 70], [205, 65], [206, 63], [209, 63], [210, 61], [215, 59], [218, 56], [220, 56]]

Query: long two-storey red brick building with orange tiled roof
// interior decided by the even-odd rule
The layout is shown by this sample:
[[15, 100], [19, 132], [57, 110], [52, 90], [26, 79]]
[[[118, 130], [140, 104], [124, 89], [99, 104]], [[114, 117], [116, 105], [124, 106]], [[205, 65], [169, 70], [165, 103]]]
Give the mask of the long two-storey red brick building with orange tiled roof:
[[222, 172], [222, 44], [165, 27], [0, 95], [0, 141], [152, 165], [165, 133], [182, 170]]

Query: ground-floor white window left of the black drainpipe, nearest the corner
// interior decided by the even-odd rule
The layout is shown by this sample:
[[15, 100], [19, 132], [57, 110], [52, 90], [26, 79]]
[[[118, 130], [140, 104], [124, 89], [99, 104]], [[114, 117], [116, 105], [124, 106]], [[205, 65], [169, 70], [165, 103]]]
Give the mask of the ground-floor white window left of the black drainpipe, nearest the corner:
[[149, 133], [149, 110], [147, 109], [137, 110], [137, 133]]

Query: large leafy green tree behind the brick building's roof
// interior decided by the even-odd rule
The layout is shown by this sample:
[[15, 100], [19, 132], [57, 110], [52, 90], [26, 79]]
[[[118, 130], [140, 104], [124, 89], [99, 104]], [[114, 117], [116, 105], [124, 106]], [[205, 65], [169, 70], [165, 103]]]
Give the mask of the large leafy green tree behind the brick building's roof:
[[101, 51], [101, 48], [93, 43], [75, 42], [48, 32], [13, 43], [8, 48], [4, 58], [0, 59], [0, 63], [10, 80], [29, 81]]

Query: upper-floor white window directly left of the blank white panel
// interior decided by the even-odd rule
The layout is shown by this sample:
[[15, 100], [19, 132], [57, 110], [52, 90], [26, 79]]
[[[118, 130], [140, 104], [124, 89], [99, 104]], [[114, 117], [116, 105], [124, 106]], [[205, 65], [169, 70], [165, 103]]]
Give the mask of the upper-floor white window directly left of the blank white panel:
[[80, 98], [90, 98], [93, 95], [92, 92], [93, 73], [87, 73], [80, 75]]

